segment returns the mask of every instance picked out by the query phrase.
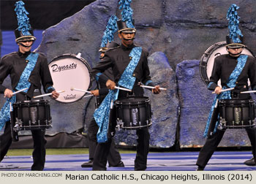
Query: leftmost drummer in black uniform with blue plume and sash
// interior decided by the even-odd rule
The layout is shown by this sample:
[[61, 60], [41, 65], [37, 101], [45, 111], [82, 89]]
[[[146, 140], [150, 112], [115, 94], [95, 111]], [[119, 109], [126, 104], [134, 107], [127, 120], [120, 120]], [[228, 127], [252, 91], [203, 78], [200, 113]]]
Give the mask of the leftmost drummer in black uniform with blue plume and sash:
[[[54, 99], [59, 97], [59, 93], [53, 88], [53, 80], [48, 69], [48, 61], [42, 53], [31, 52], [36, 37], [29, 24], [28, 12], [24, 8], [23, 1], [15, 4], [18, 15], [18, 28], [15, 30], [15, 41], [18, 44], [18, 52], [4, 55], [0, 61], [0, 92], [4, 93], [7, 103], [1, 108], [0, 129], [4, 129], [4, 134], [0, 136], [0, 161], [6, 155], [12, 144], [10, 125], [10, 102], [25, 101], [33, 98], [34, 95], [41, 94], [41, 86], [45, 93], [52, 93]], [[10, 74], [13, 91], [28, 88], [26, 91], [12, 95], [13, 91], [4, 87], [2, 83]], [[34, 152], [31, 170], [43, 170], [45, 166], [45, 130], [31, 130], [34, 140]]]

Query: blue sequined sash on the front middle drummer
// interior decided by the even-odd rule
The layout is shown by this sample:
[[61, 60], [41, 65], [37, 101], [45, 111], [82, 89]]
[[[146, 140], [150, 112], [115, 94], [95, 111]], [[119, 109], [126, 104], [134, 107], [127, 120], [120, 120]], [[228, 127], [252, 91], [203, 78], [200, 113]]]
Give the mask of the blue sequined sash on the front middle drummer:
[[[135, 84], [136, 78], [132, 76], [138, 62], [140, 61], [140, 55], [142, 52], [141, 47], [133, 47], [129, 56], [132, 57], [132, 60], [129, 62], [127, 68], [124, 70], [123, 74], [118, 81], [118, 85], [121, 85], [124, 88], [132, 89]], [[109, 113], [110, 113], [110, 104], [111, 101], [116, 101], [118, 98], [118, 90], [113, 90], [108, 93], [105, 99], [102, 101], [102, 104], [99, 105], [99, 108], [94, 112], [94, 119], [99, 126], [97, 132], [97, 142], [107, 142], [108, 141], [108, 122], [109, 122]]]

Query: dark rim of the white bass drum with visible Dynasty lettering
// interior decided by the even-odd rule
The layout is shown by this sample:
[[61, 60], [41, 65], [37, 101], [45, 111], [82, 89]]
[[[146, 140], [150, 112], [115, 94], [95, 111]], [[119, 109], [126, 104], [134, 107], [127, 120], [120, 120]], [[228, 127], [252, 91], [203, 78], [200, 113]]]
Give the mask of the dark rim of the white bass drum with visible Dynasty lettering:
[[[89, 76], [90, 76], [90, 83], [89, 83], [89, 87], [88, 87], [87, 90], [90, 90], [90, 88], [91, 88], [91, 86], [92, 86], [91, 66], [90, 66], [89, 63], [86, 61], [85, 58], [82, 58], [82, 57], [78, 58], [78, 57], [76, 57], [77, 55], [75, 55], [75, 54], [73, 54], [73, 53], [64, 53], [64, 54], [62, 54], [62, 55], [55, 56], [55, 57], [49, 62], [48, 66], [50, 65], [50, 63], [52, 63], [53, 61], [55, 61], [57, 58], [67, 57], [67, 56], [75, 57], [75, 58], [77, 58], [78, 60], [82, 61], [82, 63], [87, 66], [87, 69], [89, 70]], [[53, 100], [58, 101], [58, 102], [60, 102], [60, 103], [62, 103], [62, 104], [72, 104], [72, 103], [75, 103], [75, 102], [79, 101], [80, 99], [83, 99], [84, 96], [86, 96], [86, 93], [84, 93], [83, 96], [81, 96], [79, 99], [76, 99], [75, 101], [59, 101], [58, 99], [53, 99]]]

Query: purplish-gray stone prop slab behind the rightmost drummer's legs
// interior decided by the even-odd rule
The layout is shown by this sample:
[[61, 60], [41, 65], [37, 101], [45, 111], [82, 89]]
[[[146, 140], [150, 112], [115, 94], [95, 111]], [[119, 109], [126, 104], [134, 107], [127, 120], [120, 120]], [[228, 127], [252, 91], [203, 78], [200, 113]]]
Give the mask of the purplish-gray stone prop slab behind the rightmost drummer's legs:
[[[206, 126], [212, 101], [216, 94], [208, 91], [200, 78], [198, 60], [183, 61], [177, 65], [178, 96], [180, 99], [180, 145], [181, 147], [201, 147], [206, 139]], [[219, 146], [249, 146], [244, 129], [227, 129]]]

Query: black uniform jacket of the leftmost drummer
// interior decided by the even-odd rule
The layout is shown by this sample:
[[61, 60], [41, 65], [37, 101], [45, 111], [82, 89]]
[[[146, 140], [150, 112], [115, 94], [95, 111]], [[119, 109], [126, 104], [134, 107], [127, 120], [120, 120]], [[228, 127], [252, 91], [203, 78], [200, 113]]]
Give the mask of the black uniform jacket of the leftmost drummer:
[[[0, 93], [4, 93], [6, 87], [2, 85], [4, 79], [10, 74], [12, 81], [12, 89], [15, 90], [16, 85], [20, 80], [20, 75], [27, 65], [26, 57], [30, 54], [14, 52], [8, 55], [4, 55], [0, 61]], [[44, 88], [45, 93], [50, 93], [53, 88], [49, 88], [53, 85], [53, 80], [50, 76], [50, 71], [48, 69], [48, 61], [45, 55], [39, 53], [37, 58], [37, 64], [34, 66], [34, 70], [31, 72], [29, 77], [29, 82], [31, 86], [27, 95], [31, 98], [33, 96], [35, 89], [41, 89], [41, 83]], [[49, 88], [49, 89], [48, 89]], [[47, 90], [48, 89], [48, 90]], [[15, 90], [16, 91], [16, 90]]]

